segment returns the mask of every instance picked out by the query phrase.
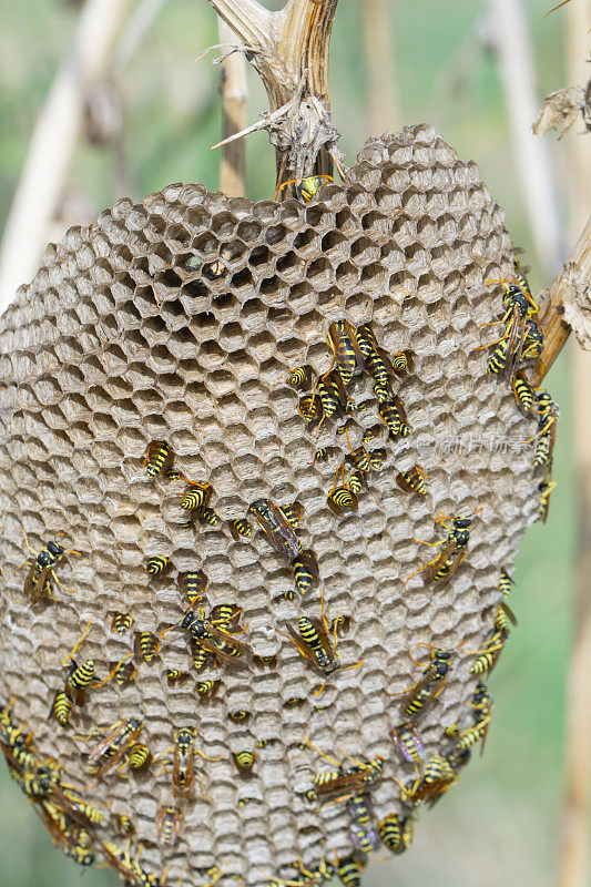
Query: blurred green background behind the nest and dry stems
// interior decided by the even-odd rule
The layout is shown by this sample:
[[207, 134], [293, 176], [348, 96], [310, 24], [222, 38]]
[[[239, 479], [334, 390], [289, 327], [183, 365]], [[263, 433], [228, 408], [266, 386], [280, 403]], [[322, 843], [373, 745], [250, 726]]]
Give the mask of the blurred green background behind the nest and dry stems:
[[[361, 4], [363, 0], [340, 0], [332, 42], [334, 121], [343, 133], [348, 163], [370, 134], [367, 65], [359, 39]], [[526, 2], [540, 96], [565, 82], [563, 17], [559, 12], [544, 19], [550, 6], [549, 0]], [[37, 114], [69, 45], [77, 9], [75, 3], [59, 0], [0, 0], [0, 9], [3, 225]], [[397, 128], [428, 121], [461, 157], [477, 161], [490, 192], [505, 207], [514, 243], [526, 249], [526, 262], [532, 265], [530, 283], [539, 288], [548, 281], [537, 271], [498, 68], [493, 55], [470, 37], [483, 9], [475, 0], [390, 0]], [[215, 16], [206, 0], [167, 0], [120, 78], [126, 175], [135, 200], [170, 182], [198, 181], [217, 187], [220, 154], [210, 145], [221, 137], [220, 69], [211, 64], [218, 52], [195, 61], [216, 42]], [[458, 85], [455, 75], [460, 73]], [[249, 89], [248, 120], [254, 122], [266, 104], [253, 72]], [[560, 174], [565, 142], [557, 145], [552, 136], [549, 141]], [[275, 163], [264, 133], [247, 140], [247, 163], [248, 196], [271, 196]], [[100, 212], [122, 196], [114, 183], [115, 166], [110, 149], [81, 145], [68, 184], [90, 197]], [[563, 191], [564, 183], [560, 184]], [[565, 216], [564, 206], [562, 211]], [[544, 887], [554, 881], [575, 538], [565, 355], [548, 384], [562, 409], [554, 468], [559, 486], [548, 523], [529, 531], [513, 574], [511, 605], [519, 628], [491, 680], [497, 706], [487, 753], [475, 755], [460, 786], [421, 817], [407, 854], [370, 866], [364, 881], [369, 887], [393, 881], [400, 887]], [[70, 887], [79, 877], [77, 867], [51, 847], [1, 766], [0, 887]], [[84, 874], [85, 887], [118, 883], [116, 875], [106, 870]]]

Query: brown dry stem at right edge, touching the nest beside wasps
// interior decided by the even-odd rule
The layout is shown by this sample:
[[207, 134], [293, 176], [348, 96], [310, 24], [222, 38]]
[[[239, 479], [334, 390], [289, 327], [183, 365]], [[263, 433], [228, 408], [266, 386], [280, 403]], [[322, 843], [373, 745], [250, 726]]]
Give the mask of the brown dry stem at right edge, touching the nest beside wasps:
[[[591, 287], [591, 216], [579, 237], [572, 255], [562, 266], [556, 281], [546, 290], [539, 313], [539, 325], [543, 330], [541, 366], [530, 376], [537, 387], [562, 350], [571, 333], [564, 312], [572, 306], [573, 315], [582, 312], [581, 303]], [[588, 296], [589, 298], [589, 296]], [[589, 323], [589, 320], [588, 320]]]

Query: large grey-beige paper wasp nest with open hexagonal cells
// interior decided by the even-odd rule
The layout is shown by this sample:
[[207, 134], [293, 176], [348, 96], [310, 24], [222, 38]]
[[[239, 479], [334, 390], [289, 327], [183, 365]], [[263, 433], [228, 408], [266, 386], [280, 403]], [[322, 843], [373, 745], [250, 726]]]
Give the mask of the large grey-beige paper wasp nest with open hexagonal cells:
[[[503, 315], [501, 287], [487, 285], [512, 274], [503, 221], [476, 164], [418, 125], [370, 140], [350, 181], [324, 186], [307, 205], [253, 204], [194, 184], [170, 185], [141, 205], [121, 200], [50, 246], [44, 267], [2, 316], [0, 702], [14, 696], [13, 714], [27, 721], [39, 753], [58, 759], [68, 782], [95, 782], [92, 803], [111, 804], [95, 833], [99, 857], [101, 839], [124, 844], [118, 813], [132, 817], [134, 840], [146, 845], [142, 864], [160, 874], [166, 863], [172, 884], [183, 865], [183, 883], [195, 887], [214, 864], [225, 866], [222, 884], [236, 876], [256, 885], [266, 875], [295, 878], [289, 863], [298, 856], [308, 867], [335, 852], [347, 856], [346, 804], [319, 809], [304, 796], [313, 774], [329, 765], [298, 743], [306, 735], [337, 757], [338, 750], [383, 755], [384, 779], [371, 793], [376, 819], [399, 812], [389, 777], [408, 782], [412, 768], [393, 746], [400, 703], [385, 691], [401, 693], [419, 679], [407, 653], [428, 657], [419, 642], [451, 649], [465, 641], [444, 692], [418, 722], [428, 754], [441, 748], [445, 726], [471, 723], [466, 703], [477, 677], [468, 653], [490, 636], [500, 568], [510, 571], [538, 506], [533, 445], [519, 446], [536, 422], [518, 412], [506, 380], [485, 376], [490, 350], [473, 350], [498, 336], [498, 327], [480, 325]], [[366, 371], [348, 389], [366, 405], [349, 427], [351, 445], [379, 426], [376, 445], [388, 457], [347, 517], [327, 506], [349, 452], [346, 436], [328, 420], [315, 439], [286, 384], [299, 365], [328, 370], [328, 326], [340, 318], [354, 327], [370, 320], [381, 348], [412, 356], [412, 369], [396, 381], [409, 437], [388, 439]], [[217, 527], [181, 527], [184, 482], [149, 478], [143, 465], [154, 440], [170, 445], [185, 478], [211, 483]], [[309, 465], [323, 446], [328, 461]], [[415, 463], [429, 476], [422, 497], [395, 482]], [[300, 538], [317, 557], [320, 581], [302, 600], [284, 599], [292, 569], [261, 531], [238, 541], [228, 532], [227, 521], [246, 518], [259, 498], [303, 507]], [[479, 508], [451, 581], [424, 584], [418, 574], [405, 584], [437, 552], [414, 539], [445, 537], [437, 513]], [[27, 569], [17, 569], [29, 555], [23, 528], [35, 551], [62, 531], [60, 541], [82, 553], [55, 568], [75, 593], [53, 583], [55, 601], [31, 606]], [[170, 557], [162, 578], [146, 574], [150, 555]], [[208, 579], [203, 603], [236, 602], [241, 640], [255, 653], [277, 653], [277, 666], [197, 675], [185, 633], [173, 630], [154, 662], [137, 663], [131, 685], [90, 691], [65, 730], [48, 720], [64, 683], [61, 661], [90, 616], [78, 657], [92, 657], [104, 677], [109, 663], [132, 652], [134, 631], [157, 633], [181, 619], [177, 578], [192, 569]], [[297, 628], [302, 612], [319, 615], [322, 593], [327, 618], [350, 616], [343, 665], [363, 664], [328, 677], [315, 695], [322, 675], [276, 629]], [[123, 636], [111, 632], [115, 610], [134, 620]], [[166, 667], [192, 677], [169, 687]], [[194, 682], [211, 676], [220, 685], [207, 701]], [[305, 701], [285, 704], [295, 696]], [[234, 710], [252, 716], [234, 723]], [[197, 755], [211, 802], [196, 779], [172, 849], [156, 846], [155, 827], [159, 806], [173, 803], [170, 765], [96, 781], [84, 767], [89, 744], [78, 736], [131, 716], [142, 720], [141, 738], [155, 756], [172, 745], [173, 728], [194, 726], [196, 747], [222, 758]], [[256, 748], [253, 775], [242, 778], [232, 753], [255, 751], [265, 738], [275, 742]]]

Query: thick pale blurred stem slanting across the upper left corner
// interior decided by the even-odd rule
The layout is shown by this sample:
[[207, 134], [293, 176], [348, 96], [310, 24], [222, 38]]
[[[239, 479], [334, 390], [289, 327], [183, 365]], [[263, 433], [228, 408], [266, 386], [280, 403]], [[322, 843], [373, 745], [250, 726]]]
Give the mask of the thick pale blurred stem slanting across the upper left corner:
[[0, 248], [0, 310], [37, 271], [82, 125], [84, 89], [101, 75], [130, 0], [86, 0], [29, 146]]

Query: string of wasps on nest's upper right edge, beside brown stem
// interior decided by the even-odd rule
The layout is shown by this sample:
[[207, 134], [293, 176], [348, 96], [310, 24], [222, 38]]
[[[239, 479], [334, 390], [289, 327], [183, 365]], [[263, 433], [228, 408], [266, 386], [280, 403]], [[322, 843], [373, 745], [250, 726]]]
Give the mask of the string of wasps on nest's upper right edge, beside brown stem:
[[490, 355], [486, 371], [509, 378], [516, 402], [523, 416], [538, 415], [538, 430], [528, 442], [536, 440], [533, 469], [536, 471], [543, 469], [543, 478], [538, 485], [540, 493], [538, 519], [546, 522], [550, 495], [556, 487], [556, 482], [552, 481], [552, 459], [560, 408], [548, 391], [532, 388], [523, 373], [523, 369], [531, 364], [538, 364], [543, 369], [541, 366], [543, 333], [536, 323], [538, 306], [528, 278], [517, 259], [514, 274], [512, 281], [501, 278], [500, 282], [489, 282], [501, 283], [503, 286], [505, 314], [498, 322], [503, 330], [500, 338], [491, 343], [496, 347]]

